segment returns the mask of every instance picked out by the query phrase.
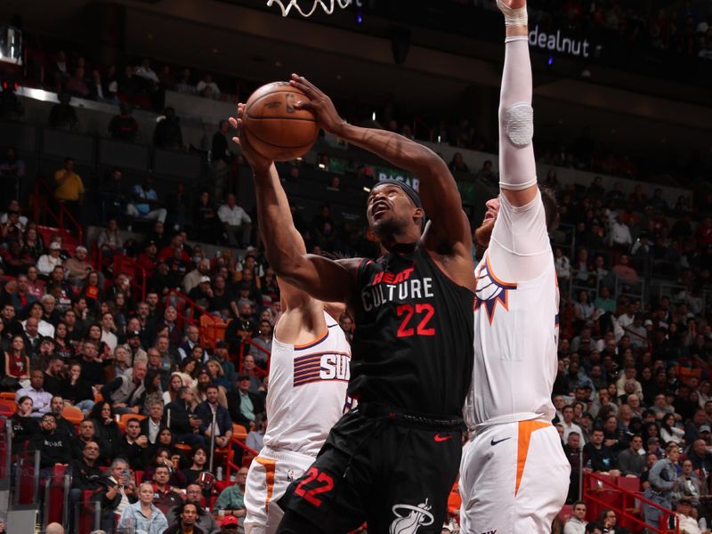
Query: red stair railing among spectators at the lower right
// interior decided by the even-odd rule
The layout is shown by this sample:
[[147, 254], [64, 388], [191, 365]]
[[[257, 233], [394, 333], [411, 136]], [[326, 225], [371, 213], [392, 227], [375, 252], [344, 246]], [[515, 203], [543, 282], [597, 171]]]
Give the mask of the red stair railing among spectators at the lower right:
[[[630, 524], [635, 523], [635, 531], [638, 529], [643, 530], [643, 529], [648, 529], [649, 532], [655, 532], [657, 534], [680, 534], [680, 517], [673, 512], [672, 510], [668, 510], [665, 506], [660, 506], [658, 503], [655, 503], [651, 501], [648, 498], [643, 497], [643, 493], [640, 492], [634, 492], [630, 490], [626, 490], [625, 488], [622, 488], [618, 484], [613, 483], [610, 480], [607, 480], [608, 477], [603, 477], [599, 476], [596, 473], [585, 473], [584, 474], [584, 495], [583, 495], [583, 500], [587, 504], [589, 508], [592, 508], [593, 506], [590, 506], [591, 503], [595, 503], [598, 506], [601, 506], [602, 508], [610, 508], [613, 510], [619, 517], [618, 523], [620, 524], [620, 518], [625, 518], [626, 523]], [[596, 481], [595, 486], [591, 483], [591, 480]], [[608, 488], [606, 488], [608, 487]], [[622, 505], [621, 506], [616, 506], [612, 504], [611, 502], [606, 502], [602, 498], [599, 498], [598, 495], [603, 493], [604, 491], [617, 491], [623, 497], [622, 499]], [[652, 526], [649, 525], [648, 523], [645, 522], [644, 516], [643, 518], [632, 514], [629, 510], [629, 508], [626, 508], [625, 502], [629, 501], [632, 503], [635, 503], [635, 501], [639, 501], [641, 503], [641, 509], [643, 508], [643, 504], [652, 506], [653, 508], [657, 508], [660, 511], [661, 518], [665, 518], [664, 521], [667, 524], [668, 518], [672, 517], [675, 520], [675, 528], [673, 529], [668, 529], [668, 528], [660, 528], [659, 524]], [[660, 521], [662, 522], [662, 521]]]

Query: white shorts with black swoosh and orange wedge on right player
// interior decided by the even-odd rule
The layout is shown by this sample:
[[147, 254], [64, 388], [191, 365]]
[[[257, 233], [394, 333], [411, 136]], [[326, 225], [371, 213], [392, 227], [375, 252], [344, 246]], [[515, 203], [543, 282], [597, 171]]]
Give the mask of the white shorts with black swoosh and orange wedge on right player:
[[569, 475], [550, 423], [519, 421], [477, 431], [460, 464], [460, 531], [550, 532], [566, 501]]

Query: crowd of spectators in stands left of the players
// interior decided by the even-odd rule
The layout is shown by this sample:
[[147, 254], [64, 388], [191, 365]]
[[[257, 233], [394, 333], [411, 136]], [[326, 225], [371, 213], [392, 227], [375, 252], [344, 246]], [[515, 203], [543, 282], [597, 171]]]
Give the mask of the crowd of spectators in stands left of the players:
[[[233, 201], [223, 207], [235, 209]], [[135, 280], [95, 263], [84, 246], [59, 235], [45, 240], [17, 201], [0, 220], [0, 389], [16, 400], [13, 451], [40, 451], [47, 475], [71, 469], [70, 503], [91, 493], [107, 531], [115, 523], [181, 531], [171, 525], [197, 517], [194, 532], [215, 532], [213, 514], [241, 525], [247, 468], [219, 496], [214, 490], [210, 514], [201, 473], [210, 472], [211, 442], [227, 447], [236, 428], [248, 447], [262, 447], [279, 286], [258, 250], [207, 257], [182, 232], [159, 229], [157, 216], [136, 255], [147, 272], [142, 295]], [[233, 239], [248, 239], [232, 226]], [[100, 247], [128, 252], [116, 221]], [[183, 309], [185, 295], [198, 305]], [[224, 329], [216, 342], [205, 330], [215, 322]], [[84, 415], [78, 428], [62, 415], [68, 407]], [[224, 461], [213, 458], [218, 479]]]

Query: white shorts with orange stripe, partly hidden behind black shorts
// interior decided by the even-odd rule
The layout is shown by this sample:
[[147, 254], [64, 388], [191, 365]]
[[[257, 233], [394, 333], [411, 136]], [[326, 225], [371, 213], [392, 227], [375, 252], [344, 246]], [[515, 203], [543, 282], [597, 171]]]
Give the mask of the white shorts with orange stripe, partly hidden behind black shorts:
[[252, 461], [245, 488], [245, 534], [272, 534], [284, 512], [277, 501], [309, 469], [314, 458], [291, 450], [263, 447]]

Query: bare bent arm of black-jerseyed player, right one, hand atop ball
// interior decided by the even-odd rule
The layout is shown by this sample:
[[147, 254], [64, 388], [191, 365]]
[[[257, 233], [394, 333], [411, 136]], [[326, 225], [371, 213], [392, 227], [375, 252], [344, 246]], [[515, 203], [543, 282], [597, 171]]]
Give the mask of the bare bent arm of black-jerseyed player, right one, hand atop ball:
[[470, 254], [470, 223], [462, 209], [457, 183], [440, 156], [402, 135], [349, 125], [339, 117], [328, 95], [309, 80], [293, 74], [290, 83], [309, 97], [309, 101], [297, 102], [296, 107], [311, 109], [319, 125], [327, 132], [417, 176], [420, 181], [418, 192], [425, 213], [432, 221], [426, 244], [432, 243], [433, 248], [443, 251], [444, 255], [453, 255], [456, 245], [464, 245], [467, 254]]

